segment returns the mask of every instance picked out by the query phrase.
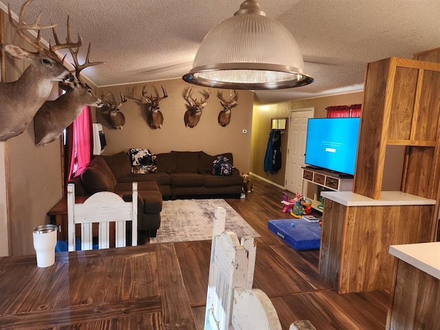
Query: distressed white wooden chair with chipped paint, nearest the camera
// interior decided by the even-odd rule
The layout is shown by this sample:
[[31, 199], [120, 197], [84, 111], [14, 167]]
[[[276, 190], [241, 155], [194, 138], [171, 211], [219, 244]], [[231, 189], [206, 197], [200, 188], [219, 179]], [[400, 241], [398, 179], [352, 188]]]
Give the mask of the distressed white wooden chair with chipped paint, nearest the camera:
[[205, 330], [281, 330], [274, 305], [260, 289], [252, 289], [256, 256], [253, 237], [225, 232], [224, 208], [214, 210], [214, 230]]

